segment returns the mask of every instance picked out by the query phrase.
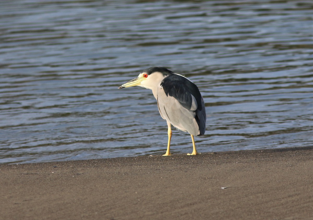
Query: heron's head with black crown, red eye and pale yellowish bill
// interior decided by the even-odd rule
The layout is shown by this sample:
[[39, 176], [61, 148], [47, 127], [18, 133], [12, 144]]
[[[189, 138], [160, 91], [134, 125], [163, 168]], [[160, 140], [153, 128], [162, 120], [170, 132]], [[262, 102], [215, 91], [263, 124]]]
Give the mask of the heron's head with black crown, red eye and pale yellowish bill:
[[119, 88], [140, 86], [152, 90], [156, 86], [160, 85], [164, 78], [171, 74], [173, 74], [173, 72], [164, 67], [150, 67], [139, 74], [137, 78], [128, 81]]

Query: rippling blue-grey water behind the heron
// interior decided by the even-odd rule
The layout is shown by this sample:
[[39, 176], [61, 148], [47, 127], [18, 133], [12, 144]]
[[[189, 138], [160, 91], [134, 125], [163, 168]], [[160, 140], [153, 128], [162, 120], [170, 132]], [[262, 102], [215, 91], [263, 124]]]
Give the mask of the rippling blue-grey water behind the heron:
[[[0, 2], [0, 163], [156, 155], [167, 125], [144, 88], [164, 66], [198, 85], [199, 152], [313, 145], [313, 2]], [[172, 153], [190, 153], [173, 130]]]

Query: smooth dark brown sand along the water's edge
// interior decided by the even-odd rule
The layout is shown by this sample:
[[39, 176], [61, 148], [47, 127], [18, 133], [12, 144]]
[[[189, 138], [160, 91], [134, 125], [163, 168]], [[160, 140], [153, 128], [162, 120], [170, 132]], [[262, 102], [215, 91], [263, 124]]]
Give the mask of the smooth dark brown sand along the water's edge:
[[312, 174], [313, 147], [0, 165], [0, 219], [312, 220]]

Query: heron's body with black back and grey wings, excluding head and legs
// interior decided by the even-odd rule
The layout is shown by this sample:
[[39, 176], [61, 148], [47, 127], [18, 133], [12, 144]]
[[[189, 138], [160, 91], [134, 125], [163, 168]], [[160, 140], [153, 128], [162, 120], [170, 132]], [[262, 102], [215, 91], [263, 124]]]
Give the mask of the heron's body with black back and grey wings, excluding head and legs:
[[194, 136], [204, 134], [206, 114], [198, 87], [182, 76], [173, 76], [165, 78], [157, 92], [161, 117]]

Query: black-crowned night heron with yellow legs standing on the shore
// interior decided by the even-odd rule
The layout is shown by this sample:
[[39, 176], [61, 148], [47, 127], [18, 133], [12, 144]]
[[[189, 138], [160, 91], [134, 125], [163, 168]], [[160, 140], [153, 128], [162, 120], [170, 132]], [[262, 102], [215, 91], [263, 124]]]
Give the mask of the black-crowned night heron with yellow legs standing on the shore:
[[191, 135], [193, 151], [187, 155], [198, 155], [194, 136], [203, 135], [206, 124], [204, 101], [198, 87], [185, 76], [158, 66], [143, 70], [137, 78], [126, 82], [119, 88], [132, 86], [152, 90], [159, 113], [167, 122], [167, 151], [163, 156], [172, 155], [170, 152], [171, 125]]

